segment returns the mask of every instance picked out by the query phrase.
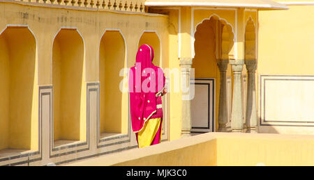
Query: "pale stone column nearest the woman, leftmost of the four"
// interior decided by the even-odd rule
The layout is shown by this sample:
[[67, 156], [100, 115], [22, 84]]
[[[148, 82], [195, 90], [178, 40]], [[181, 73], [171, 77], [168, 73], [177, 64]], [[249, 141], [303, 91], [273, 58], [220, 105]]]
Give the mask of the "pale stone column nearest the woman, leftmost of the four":
[[[181, 67], [181, 90], [182, 90], [182, 129], [181, 138], [189, 137], [192, 129], [190, 99], [190, 68], [192, 58], [180, 58]], [[183, 88], [183, 89], [182, 89]]]

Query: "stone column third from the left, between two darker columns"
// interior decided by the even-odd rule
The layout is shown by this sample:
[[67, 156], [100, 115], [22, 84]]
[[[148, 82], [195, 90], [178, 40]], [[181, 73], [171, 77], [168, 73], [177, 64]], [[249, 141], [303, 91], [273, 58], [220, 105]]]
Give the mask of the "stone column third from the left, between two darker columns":
[[244, 116], [242, 104], [242, 69], [244, 60], [230, 60], [233, 71], [233, 96], [232, 96], [232, 114], [231, 128], [232, 132], [242, 132], [244, 129]]

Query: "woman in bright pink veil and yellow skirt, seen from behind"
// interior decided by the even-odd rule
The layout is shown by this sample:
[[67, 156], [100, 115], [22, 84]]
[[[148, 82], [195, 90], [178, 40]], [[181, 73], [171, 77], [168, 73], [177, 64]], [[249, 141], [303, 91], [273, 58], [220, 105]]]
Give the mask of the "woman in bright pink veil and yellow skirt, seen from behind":
[[144, 44], [137, 51], [135, 66], [130, 68], [130, 114], [140, 148], [159, 144], [161, 140], [165, 76], [152, 63], [153, 59], [153, 48]]

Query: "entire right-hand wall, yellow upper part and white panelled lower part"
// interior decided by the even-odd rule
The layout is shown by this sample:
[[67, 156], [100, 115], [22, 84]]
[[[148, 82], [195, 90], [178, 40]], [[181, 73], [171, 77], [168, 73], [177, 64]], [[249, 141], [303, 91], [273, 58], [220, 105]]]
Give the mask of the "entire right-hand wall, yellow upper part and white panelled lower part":
[[[313, 2], [308, 1], [308, 3]], [[289, 10], [259, 11], [258, 15], [257, 74], [260, 75], [260, 80], [263, 76], [267, 76], [267, 79], [258, 83], [260, 89], [260, 93], [257, 94], [258, 110], [262, 124], [274, 124], [260, 126], [260, 131], [313, 134], [313, 126], [309, 125], [313, 118], [305, 115], [313, 115], [313, 106], [311, 106], [313, 102], [310, 100], [313, 97], [311, 92], [313, 83], [307, 80], [314, 75], [314, 6], [307, 5], [304, 1], [283, 3], [299, 3], [299, 5], [289, 5]], [[291, 100], [287, 101], [287, 99]], [[297, 117], [288, 115], [294, 112], [292, 109]], [[269, 112], [274, 112], [274, 115]], [[276, 124], [270, 120], [274, 120]], [[285, 126], [283, 122], [288, 122], [286, 124], [289, 126]]]

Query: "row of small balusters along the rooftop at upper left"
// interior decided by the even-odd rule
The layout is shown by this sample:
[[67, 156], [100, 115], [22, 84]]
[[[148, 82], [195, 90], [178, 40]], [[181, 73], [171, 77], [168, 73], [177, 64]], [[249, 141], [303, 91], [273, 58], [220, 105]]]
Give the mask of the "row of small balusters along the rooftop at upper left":
[[145, 0], [15, 0], [32, 3], [57, 4], [104, 10], [124, 10], [144, 13]]

